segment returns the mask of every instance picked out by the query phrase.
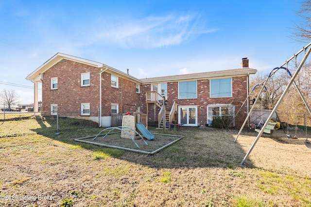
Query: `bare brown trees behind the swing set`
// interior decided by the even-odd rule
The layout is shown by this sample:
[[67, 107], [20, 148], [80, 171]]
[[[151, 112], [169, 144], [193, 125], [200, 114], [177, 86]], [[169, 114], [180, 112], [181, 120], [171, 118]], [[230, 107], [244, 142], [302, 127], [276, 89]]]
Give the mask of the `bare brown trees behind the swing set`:
[[[294, 74], [298, 64], [292, 66], [286, 65], [291, 74]], [[311, 105], [311, 62], [307, 62], [303, 65], [294, 83], [301, 92], [302, 96], [306, 100], [307, 104]], [[262, 83], [267, 79], [269, 74], [257, 74], [250, 79], [250, 88], [253, 89], [257, 84]], [[265, 89], [259, 94], [261, 85], [257, 86], [252, 92], [250, 99], [257, 99], [257, 103], [254, 106], [255, 109], [266, 109], [272, 110], [276, 105], [277, 101], [283, 94], [286, 86], [288, 85], [291, 77], [288, 75], [286, 69], [279, 69], [274, 75], [272, 75], [266, 82]], [[283, 120], [289, 121], [292, 124], [304, 124], [304, 113], [307, 111], [307, 106], [304, 104], [301, 96], [299, 95], [294, 83], [290, 87], [289, 91], [285, 95], [283, 101], [278, 107], [277, 113], [279, 114], [290, 114], [289, 118], [281, 116]], [[252, 103], [252, 101], [251, 101]], [[310, 117], [310, 116], [308, 116]], [[285, 120], [284, 120], [285, 119]], [[287, 120], [289, 119], [289, 120]], [[308, 122], [311, 125], [311, 120]]]

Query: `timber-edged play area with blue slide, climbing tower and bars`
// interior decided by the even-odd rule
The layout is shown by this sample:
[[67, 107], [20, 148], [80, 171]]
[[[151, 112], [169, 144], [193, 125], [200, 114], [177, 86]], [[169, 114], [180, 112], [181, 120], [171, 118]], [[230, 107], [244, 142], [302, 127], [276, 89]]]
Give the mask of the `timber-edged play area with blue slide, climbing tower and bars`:
[[[74, 141], [152, 155], [183, 138], [183, 136], [178, 135], [152, 134], [148, 130], [147, 114], [141, 112], [133, 112], [133, 115], [131, 114], [131, 112], [128, 112], [126, 115], [123, 115], [122, 126], [120, 127], [108, 127], [96, 136], [78, 138], [74, 139]], [[133, 149], [127, 142], [129, 140], [138, 149]], [[148, 141], [152, 141], [152, 143], [148, 143]], [[138, 142], [142, 143], [142, 145], [140, 144], [139, 146]], [[156, 142], [158, 144], [154, 144]], [[122, 144], [123, 146], [121, 146]], [[155, 145], [155, 147], [148, 147], [150, 144]], [[148, 150], [141, 150], [141, 148]]]

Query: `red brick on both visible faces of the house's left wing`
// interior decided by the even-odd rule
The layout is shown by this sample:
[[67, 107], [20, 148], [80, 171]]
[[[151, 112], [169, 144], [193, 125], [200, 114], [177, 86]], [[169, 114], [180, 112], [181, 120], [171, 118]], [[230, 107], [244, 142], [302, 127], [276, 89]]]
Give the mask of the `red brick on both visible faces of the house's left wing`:
[[[81, 74], [90, 73], [90, 85], [81, 86]], [[42, 110], [57, 104], [62, 115], [80, 115], [81, 103], [90, 103], [90, 116], [98, 116], [100, 107], [100, 69], [86, 64], [63, 61], [43, 74]], [[58, 79], [58, 89], [51, 90], [51, 78]], [[119, 112], [136, 111], [139, 94], [136, 83], [119, 77], [119, 88], [111, 87], [111, 75], [102, 73], [102, 116], [111, 115], [111, 103], [119, 104]], [[64, 111], [67, 111], [65, 113]], [[73, 113], [73, 112], [76, 113]]]

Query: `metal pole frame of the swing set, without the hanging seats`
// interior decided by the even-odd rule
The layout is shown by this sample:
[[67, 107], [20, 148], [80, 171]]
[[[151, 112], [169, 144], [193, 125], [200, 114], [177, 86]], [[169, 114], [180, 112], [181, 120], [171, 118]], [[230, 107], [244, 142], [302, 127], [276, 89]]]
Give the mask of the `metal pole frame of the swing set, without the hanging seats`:
[[[262, 87], [261, 87], [261, 89], [260, 89], [260, 92], [259, 92], [257, 98], [255, 99], [255, 101], [254, 101], [254, 103], [253, 103], [252, 108], [251, 108], [250, 111], [248, 112], [248, 114], [247, 114], [247, 116], [246, 116], [246, 118], [245, 118], [245, 120], [244, 120], [244, 123], [243, 123], [243, 125], [242, 125], [242, 127], [241, 127], [241, 129], [240, 129], [240, 131], [239, 131], [239, 133], [238, 133], [238, 135], [237, 135], [237, 137], [236, 137], [235, 140], [234, 140], [234, 143], [237, 141], [238, 137], [240, 136], [240, 134], [241, 134], [241, 132], [242, 132], [242, 129], [244, 128], [245, 124], [247, 123], [247, 121], [248, 121], [248, 119], [249, 119], [249, 116], [250, 116], [252, 110], [254, 109], [254, 105], [256, 104], [257, 100], [259, 99], [259, 95], [262, 93], [263, 89], [266, 89], [265, 85], [266, 85], [267, 81], [268, 81], [268, 80], [270, 79], [270, 77], [271, 77], [272, 75], [274, 75], [274, 74], [276, 73], [276, 71], [278, 71], [279, 69], [286, 69], [288, 75], [289, 75], [290, 78], [291, 78], [291, 80], [288, 82], [288, 84], [287, 84], [286, 88], [284, 89], [282, 95], [280, 96], [280, 98], [279, 98], [279, 100], [277, 101], [276, 105], [273, 107], [272, 111], [270, 112], [270, 114], [269, 114], [267, 120], [271, 120], [271, 119], [272, 119], [273, 114], [276, 113], [277, 108], [279, 107], [280, 103], [281, 103], [282, 100], [284, 99], [285, 95], [288, 93], [288, 91], [289, 91], [289, 89], [290, 89], [290, 87], [291, 87], [291, 85], [292, 85], [293, 83], [294, 83], [294, 86], [295, 86], [295, 88], [296, 88], [296, 90], [297, 90], [299, 96], [301, 97], [301, 99], [302, 99], [302, 101], [304, 102], [304, 104], [305, 104], [305, 106], [306, 106], [308, 112], [309, 112], [310, 115], [311, 115], [310, 107], [308, 106], [308, 103], [307, 103], [306, 99], [304, 98], [303, 94], [301, 93], [301, 91], [299, 90], [299, 88], [298, 88], [298, 86], [297, 86], [297, 84], [296, 84], [296, 82], [295, 82], [295, 79], [296, 79], [297, 75], [299, 74], [300, 69], [302, 68], [303, 64], [306, 62], [308, 56], [309, 56], [310, 53], [311, 53], [311, 47], [310, 47], [310, 46], [311, 46], [311, 42], [310, 42], [308, 45], [306, 45], [305, 47], [303, 47], [301, 50], [299, 50], [299, 51], [298, 51], [296, 54], [294, 54], [291, 58], [289, 58], [289, 59], [288, 59], [284, 64], [282, 64], [280, 67], [274, 68], [274, 69], [270, 72], [269, 76], [268, 76], [265, 80], [263, 80], [260, 84], [258, 84], [258, 85], [255, 86], [255, 87], [257, 87], [257, 86], [261, 85]], [[307, 50], [307, 48], [308, 48], [308, 50]], [[292, 74], [290, 73], [290, 71], [288, 70], [288, 68], [283, 67], [283, 66], [286, 65], [286, 64], [288, 64], [292, 59], [296, 58], [296, 57], [297, 57], [301, 52], [303, 52], [303, 51], [305, 51], [305, 55], [304, 55], [303, 59], [301, 60], [300, 64], [297, 66], [297, 68], [296, 68], [296, 70], [295, 70], [295, 72], [294, 72], [294, 75], [292, 75]], [[251, 93], [254, 91], [255, 87], [253, 88], [253, 90], [251, 91]], [[247, 98], [246, 98], [245, 101], [243, 102], [242, 106], [243, 106], [244, 103], [249, 99], [251, 93], [247, 96]], [[270, 99], [270, 97], [269, 97], [269, 99]], [[271, 102], [271, 100], [270, 100], [270, 102]], [[242, 107], [240, 108], [239, 111], [241, 111], [241, 109], [242, 109]], [[239, 111], [237, 112], [237, 114], [239, 113]], [[246, 161], [247, 157], [248, 157], [248, 156], [250, 155], [250, 153], [252, 152], [253, 148], [255, 147], [256, 143], [258, 142], [259, 138], [260, 138], [261, 135], [263, 134], [263, 132], [264, 132], [265, 128], [268, 126], [268, 124], [269, 124], [269, 122], [266, 121], [266, 122], [264, 123], [264, 125], [262, 126], [262, 128], [260, 129], [260, 131], [259, 131], [259, 133], [258, 133], [258, 135], [257, 135], [257, 137], [256, 137], [256, 139], [255, 139], [255, 141], [254, 141], [254, 143], [252, 144], [252, 146], [250, 147], [250, 149], [249, 149], [248, 152], [246, 153], [244, 159], [242, 160], [241, 165], [244, 164], [244, 162]], [[308, 140], [307, 136], [306, 136], [306, 140], [305, 140], [305, 145], [306, 145], [308, 148], [311, 149], [311, 142]]]

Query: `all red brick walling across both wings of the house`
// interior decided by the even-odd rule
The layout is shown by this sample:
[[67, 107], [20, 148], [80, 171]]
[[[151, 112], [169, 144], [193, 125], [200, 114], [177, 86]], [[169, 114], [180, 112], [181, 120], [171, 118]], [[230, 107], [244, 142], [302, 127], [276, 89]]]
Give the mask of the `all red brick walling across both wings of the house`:
[[[90, 73], [90, 86], [81, 86], [81, 74]], [[44, 72], [42, 80], [42, 110], [50, 111], [51, 104], [57, 104], [59, 111], [67, 111], [66, 115], [80, 115], [81, 103], [90, 103], [90, 116], [98, 116], [100, 107], [100, 69], [86, 64], [63, 61]], [[51, 90], [51, 78], [58, 78], [58, 89]], [[196, 99], [178, 99], [178, 82], [168, 82], [168, 106], [171, 110], [173, 101], [179, 105], [198, 107], [198, 124], [207, 123], [208, 104], [233, 104], [238, 111], [245, 100], [248, 77], [232, 78], [232, 96], [229, 98], [210, 98], [209, 80], [197, 80]], [[140, 111], [147, 113], [146, 92], [151, 91], [151, 84], [140, 86], [140, 94], [136, 93], [136, 83], [119, 77], [119, 87], [111, 87], [111, 74], [102, 73], [102, 116], [111, 115], [111, 103], [119, 104], [119, 112]], [[148, 120], [157, 120], [159, 107], [148, 105]], [[75, 114], [72, 112], [76, 111]], [[246, 105], [236, 117], [236, 126], [241, 126], [246, 117]]]

